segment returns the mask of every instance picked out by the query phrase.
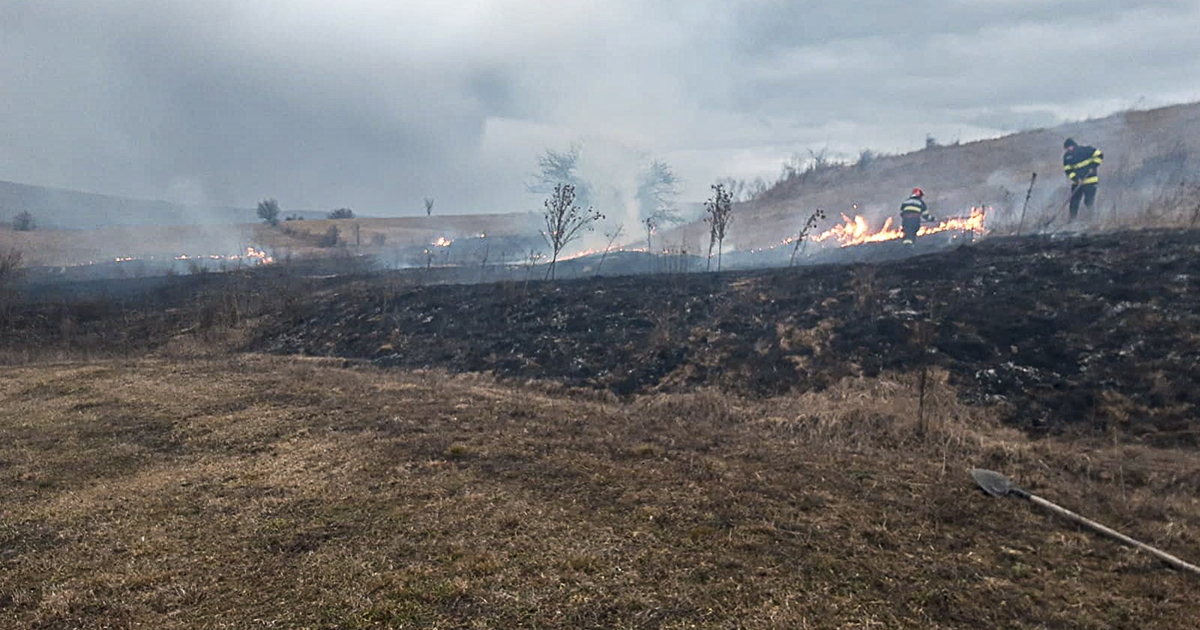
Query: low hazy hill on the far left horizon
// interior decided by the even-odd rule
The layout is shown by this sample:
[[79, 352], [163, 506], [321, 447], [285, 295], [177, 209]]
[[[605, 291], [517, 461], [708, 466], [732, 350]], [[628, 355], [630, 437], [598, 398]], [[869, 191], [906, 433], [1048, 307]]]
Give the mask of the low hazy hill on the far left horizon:
[[[23, 211], [34, 215], [38, 227], [49, 229], [211, 226], [258, 220], [254, 210], [246, 208], [182, 205], [0, 181], [0, 221], [8, 222]], [[325, 212], [299, 214], [305, 218], [325, 216]]]

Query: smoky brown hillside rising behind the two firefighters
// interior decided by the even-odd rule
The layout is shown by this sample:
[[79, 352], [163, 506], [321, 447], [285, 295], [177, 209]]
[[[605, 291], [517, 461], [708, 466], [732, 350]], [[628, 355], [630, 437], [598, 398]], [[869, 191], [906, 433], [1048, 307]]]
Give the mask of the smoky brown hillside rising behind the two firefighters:
[[[991, 227], [1019, 221], [1030, 175], [1038, 174], [1030, 203], [1030, 223], [1062, 214], [1067, 179], [1062, 142], [1104, 150], [1097, 210], [1103, 221], [1140, 212], [1183, 181], [1200, 182], [1200, 103], [1130, 110], [1054, 128], [1015, 133], [966, 144], [934, 146], [860, 164], [834, 166], [778, 182], [762, 198], [737, 204], [726, 247], [749, 250], [778, 245], [794, 235], [804, 218], [824, 209], [823, 230], [841, 214], [863, 215], [872, 228], [896, 215], [914, 186], [926, 192], [935, 215], [966, 215], [990, 205]], [[696, 221], [662, 234], [667, 246], [708, 242], [708, 226]]]

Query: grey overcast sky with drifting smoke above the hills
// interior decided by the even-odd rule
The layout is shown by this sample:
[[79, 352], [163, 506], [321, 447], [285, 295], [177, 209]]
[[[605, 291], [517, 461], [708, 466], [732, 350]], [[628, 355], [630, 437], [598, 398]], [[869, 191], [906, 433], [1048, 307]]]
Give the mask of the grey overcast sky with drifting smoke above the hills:
[[1196, 0], [0, 0], [0, 179], [514, 211], [581, 142], [698, 200], [808, 148], [1200, 100], [1198, 32]]

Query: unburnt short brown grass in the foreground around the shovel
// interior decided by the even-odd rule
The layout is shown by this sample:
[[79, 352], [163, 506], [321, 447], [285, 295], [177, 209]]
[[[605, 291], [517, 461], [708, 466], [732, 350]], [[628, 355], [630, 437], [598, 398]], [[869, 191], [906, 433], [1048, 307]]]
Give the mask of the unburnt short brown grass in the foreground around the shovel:
[[1180, 628], [1194, 454], [1031, 442], [932, 371], [768, 401], [233, 356], [0, 378], [5, 628]]

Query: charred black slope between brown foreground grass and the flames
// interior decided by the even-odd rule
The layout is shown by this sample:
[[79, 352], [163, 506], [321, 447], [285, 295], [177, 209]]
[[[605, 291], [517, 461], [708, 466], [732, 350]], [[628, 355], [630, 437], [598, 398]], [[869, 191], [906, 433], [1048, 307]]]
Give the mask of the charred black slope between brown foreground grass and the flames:
[[722, 275], [437, 287], [379, 276], [269, 317], [250, 349], [619, 395], [769, 396], [932, 362], [1027, 430], [1196, 445], [1198, 254], [1198, 232], [1147, 230]]

